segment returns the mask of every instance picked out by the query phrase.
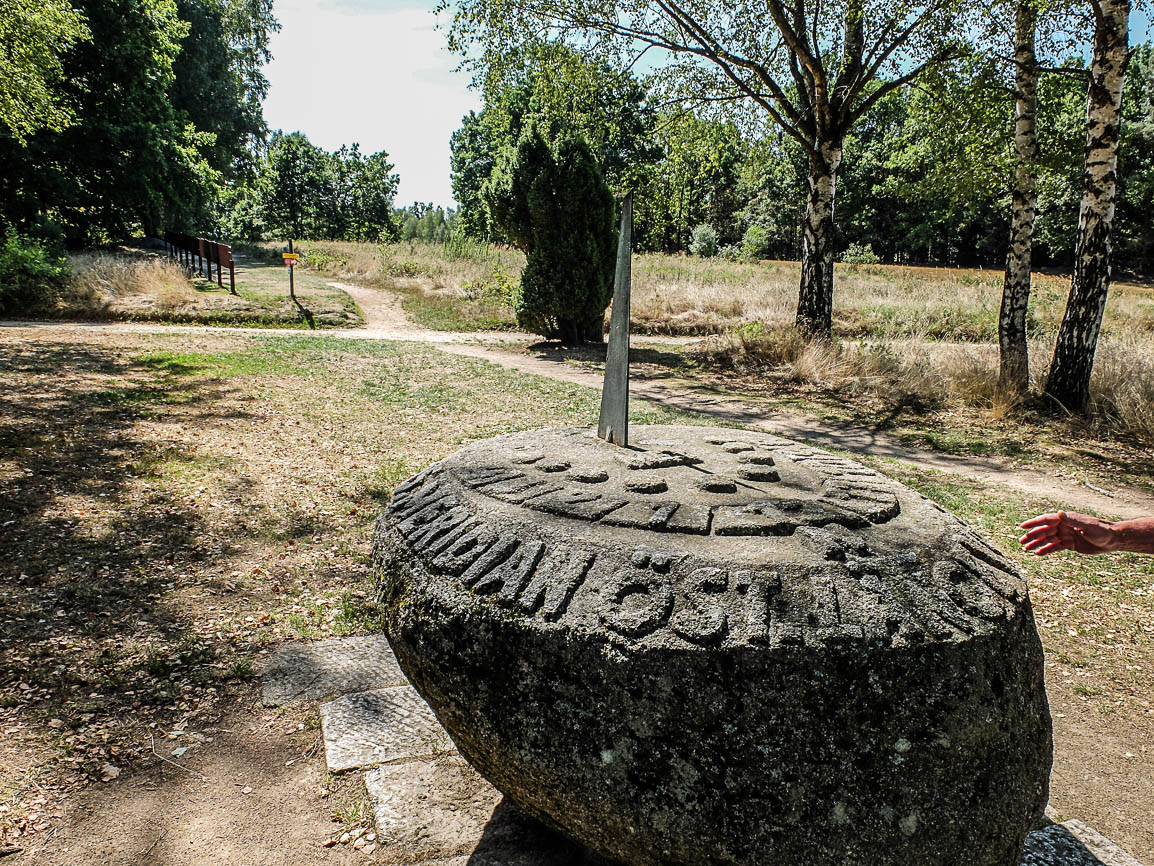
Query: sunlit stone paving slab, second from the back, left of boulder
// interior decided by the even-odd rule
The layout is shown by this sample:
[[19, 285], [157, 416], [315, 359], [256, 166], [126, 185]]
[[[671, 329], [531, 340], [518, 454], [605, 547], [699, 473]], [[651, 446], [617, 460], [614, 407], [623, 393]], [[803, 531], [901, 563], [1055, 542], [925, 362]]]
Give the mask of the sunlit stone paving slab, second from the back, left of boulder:
[[412, 686], [394, 686], [321, 704], [330, 772], [429, 757], [452, 741]]

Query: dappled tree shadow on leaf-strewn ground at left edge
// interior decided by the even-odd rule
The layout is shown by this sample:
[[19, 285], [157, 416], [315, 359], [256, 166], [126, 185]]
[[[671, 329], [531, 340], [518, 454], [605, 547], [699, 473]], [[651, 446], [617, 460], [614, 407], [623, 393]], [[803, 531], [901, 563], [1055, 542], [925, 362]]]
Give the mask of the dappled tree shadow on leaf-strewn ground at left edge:
[[230, 544], [180, 491], [142, 481], [196, 460], [140, 432], [159, 408], [243, 417], [223, 408], [222, 382], [187, 372], [48, 342], [0, 361], [0, 715], [24, 733], [51, 729], [59, 755], [90, 775], [123, 761], [87, 731], [187, 709], [225, 679], [216, 642], [168, 596]]

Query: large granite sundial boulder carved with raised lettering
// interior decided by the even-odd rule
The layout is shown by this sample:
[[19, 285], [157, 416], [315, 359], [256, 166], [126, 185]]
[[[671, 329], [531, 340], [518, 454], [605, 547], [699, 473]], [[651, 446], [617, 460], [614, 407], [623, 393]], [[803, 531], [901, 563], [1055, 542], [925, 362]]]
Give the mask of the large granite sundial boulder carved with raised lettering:
[[460, 753], [625, 864], [1017, 866], [1051, 757], [1026, 587], [852, 461], [707, 427], [478, 442], [377, 525]]

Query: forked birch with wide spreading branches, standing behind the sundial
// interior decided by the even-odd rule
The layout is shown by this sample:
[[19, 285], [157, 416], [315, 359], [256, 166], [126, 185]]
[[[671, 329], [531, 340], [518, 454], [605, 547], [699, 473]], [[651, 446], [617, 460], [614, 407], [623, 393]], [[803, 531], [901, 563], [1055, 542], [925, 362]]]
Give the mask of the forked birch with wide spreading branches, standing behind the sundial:
[[887, 94], [957, 54], [954, 0], [786, 3], [705, 0], [458, 0], [450, 47], [480, 74], [517, 62], [548, 33], [631, 65], [638, 45], [674, 61], [664, 70], [696, 102], [757, 106], [809, 158], [797, 326], [827, 335], [833, 314], [833, 206], [845, 139]]

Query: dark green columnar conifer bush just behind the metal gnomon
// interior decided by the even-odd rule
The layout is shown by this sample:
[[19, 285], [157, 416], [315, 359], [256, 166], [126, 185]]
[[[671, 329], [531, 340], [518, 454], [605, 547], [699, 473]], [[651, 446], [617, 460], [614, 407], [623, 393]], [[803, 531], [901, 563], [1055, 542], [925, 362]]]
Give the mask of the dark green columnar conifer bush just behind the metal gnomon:
[[526, 255], [517, 323], [569, 344], [600, 342], [613, 289], [613, 194], [585, 141], [530, 122], [485, 185], [496, 225]]

